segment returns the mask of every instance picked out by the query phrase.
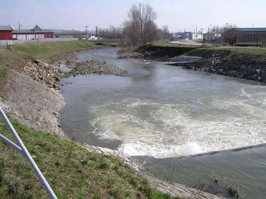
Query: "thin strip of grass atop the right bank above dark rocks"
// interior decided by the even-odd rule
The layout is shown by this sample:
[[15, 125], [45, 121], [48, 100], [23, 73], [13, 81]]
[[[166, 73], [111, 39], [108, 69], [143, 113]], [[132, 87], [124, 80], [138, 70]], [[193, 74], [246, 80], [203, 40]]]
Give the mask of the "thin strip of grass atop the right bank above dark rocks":
[[221, 54], [222, 57], [227, 57], [232, 54], [250, 54], [258, 57], [266, 57], [265, 48], [237, 48], [237, 47], [228, 47], [228, 48], [197, 48], [193, 51], [186, 53], [186, 56], [197, 56], [203, 58], [210, 58], [212, 54]]

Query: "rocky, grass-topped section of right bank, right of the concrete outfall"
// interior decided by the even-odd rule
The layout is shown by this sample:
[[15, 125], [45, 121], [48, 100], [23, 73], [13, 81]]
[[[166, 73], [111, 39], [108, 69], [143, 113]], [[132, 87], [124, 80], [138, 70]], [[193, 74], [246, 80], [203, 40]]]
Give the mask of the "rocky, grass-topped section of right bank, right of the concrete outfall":
[[192, 65], [188, 64], [186, 68], [235, 78], [266, 82], [266, 49], [200, 48], [186, 55], [208, 59], [212, 54], [220, 54], [221, 59], [198, 64], [194, 63]]

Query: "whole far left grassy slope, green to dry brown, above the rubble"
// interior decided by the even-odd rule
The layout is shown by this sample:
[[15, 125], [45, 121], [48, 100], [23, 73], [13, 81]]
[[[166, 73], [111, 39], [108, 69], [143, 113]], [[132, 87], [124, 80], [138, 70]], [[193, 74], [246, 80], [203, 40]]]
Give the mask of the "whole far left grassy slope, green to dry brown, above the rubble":
[[0, 47], [0, 86], [3, 85], [9, 69], [19, 71], [29, 57], [53, 63], [74, 52], [103, 47], [88, 41], [66, 41], [16, 45], [11, 49]]

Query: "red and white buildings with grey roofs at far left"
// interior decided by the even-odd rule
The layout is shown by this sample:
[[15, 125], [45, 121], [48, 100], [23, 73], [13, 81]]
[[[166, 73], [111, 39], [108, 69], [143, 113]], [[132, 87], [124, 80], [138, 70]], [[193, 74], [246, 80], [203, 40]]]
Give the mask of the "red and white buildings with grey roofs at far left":
[[50, 29], [41, 29], [35, 25], [33, 29], [17, 29], [11, 25], [0, 26], [0, 40], [32, 40], [54, 38], [54, 32]]

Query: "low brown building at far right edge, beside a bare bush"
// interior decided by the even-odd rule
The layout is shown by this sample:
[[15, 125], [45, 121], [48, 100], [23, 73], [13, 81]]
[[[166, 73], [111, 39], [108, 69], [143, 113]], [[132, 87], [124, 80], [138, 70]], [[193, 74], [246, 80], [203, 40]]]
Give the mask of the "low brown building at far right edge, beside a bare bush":
[[231, 28], [224, 36], [234, 38], [237, 45], [261, 45], [266, 43], [266, 28]]

